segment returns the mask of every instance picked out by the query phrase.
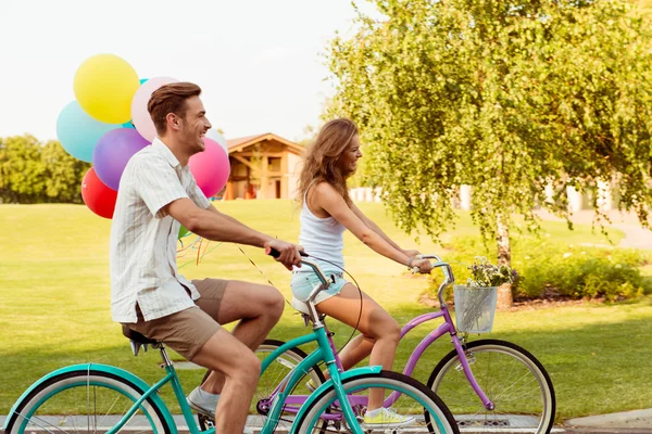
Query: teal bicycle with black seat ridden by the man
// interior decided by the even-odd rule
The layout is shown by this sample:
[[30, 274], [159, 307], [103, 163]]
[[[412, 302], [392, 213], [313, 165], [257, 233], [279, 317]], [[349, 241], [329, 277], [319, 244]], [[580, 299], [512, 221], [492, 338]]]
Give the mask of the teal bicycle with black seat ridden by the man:
[[[263, 424], [258, 430], [262, 434], [272, 434], [277, 430], [285, 431], [284, 423], [289, 422], [287, 430], [290, 434], [324, 433], [331, 429], [355, 434], [371, 431], [457, 434], [451, 412], [422, 383], [400, 373], [383, 371], [380, 367], [356, 368], [346, 372], [337, 368], [331, 335], [312, 302], [319, 291], [328, 288], [329, 281], [315, 264], [308, 260], [302, 264], [311, 267], [322, 280], [322, 285], [313, 291], [308, 303], [313, 331], [274, 350], [263, 361], [261, 375], [284, 353], [311, 342], [316, 342], [318, 346], [284, 379], [274, 400], [267, 403]], [[213, 434], [214, 426], [202, 431], [195, 421], [163, 344], [128, 329], [123, 331], [130, 340], [134, 355], [138, 355], [143, 346], [147, 349], [147, 345], [160, 350], [165, 369], [163, 379], [150, 386], [121, 368], [97, 363], [59, 369], [38, 380], [18, 398], [7, 418], [5, 433], [114, 434], [128, 431], [176, 434], [178, 429], [175, 419], [158, 394], [161, 387], [170, 383], [190, 434]], [[294, 409], [288, 411], [287, 398], [301, 379], [321, 362], [328, 368], [330, 379], [305, 396], [299, 407], [289, 406]], [[397, 411], [413, 414], [410, 425], [365, 425], [364, 412], [371, 388], [383, 388], [386, 394], [393, 396], [392, 405]]]

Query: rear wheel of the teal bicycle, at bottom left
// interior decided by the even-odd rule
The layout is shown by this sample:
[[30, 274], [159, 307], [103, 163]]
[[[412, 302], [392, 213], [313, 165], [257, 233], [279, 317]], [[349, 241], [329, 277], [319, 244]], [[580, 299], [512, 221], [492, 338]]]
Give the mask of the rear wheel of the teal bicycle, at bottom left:
[[[51, 378], [35, 388], [10, 414], [8, 434], [105, 432], [115, 425], [145, 391], [106, 372], [79, 370]], [[130, 433], [172, 432], [151, 399], [123, 426]]]

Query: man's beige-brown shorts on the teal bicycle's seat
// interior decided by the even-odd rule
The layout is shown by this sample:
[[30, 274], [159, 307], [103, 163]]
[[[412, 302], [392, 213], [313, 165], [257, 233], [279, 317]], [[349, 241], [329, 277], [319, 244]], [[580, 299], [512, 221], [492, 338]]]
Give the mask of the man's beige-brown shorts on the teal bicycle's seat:
[[228, 280], [222, 279], [193, 280], [192, 284], [200, 294], [195, 301], [198, 307], [151, 321], [145, 321], [138, 309], [138, 322], [125, 326], [146, 337], [163, 342], [187, 360], [192, 360], [221, 328], [217, 314], [227, 283]]

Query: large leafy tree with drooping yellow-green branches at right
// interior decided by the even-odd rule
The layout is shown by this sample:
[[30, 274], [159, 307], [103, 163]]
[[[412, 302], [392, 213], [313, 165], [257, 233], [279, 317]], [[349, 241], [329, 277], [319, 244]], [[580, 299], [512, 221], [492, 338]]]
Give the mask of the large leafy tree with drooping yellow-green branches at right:
[[568, 218], [568, 186], [615, 174], [619, 206], [647, 224], [650, 35], [627, 3], [375, 3], [380, 17], [360, 13], [358, 33], [329, 48], [333, 113], [361, 126], [399, 227], [438, 238], [455, 219], [451, 195], [471, 184], [472, 217], [509, 265], [514, 215], [530, 230], [538, 205]]

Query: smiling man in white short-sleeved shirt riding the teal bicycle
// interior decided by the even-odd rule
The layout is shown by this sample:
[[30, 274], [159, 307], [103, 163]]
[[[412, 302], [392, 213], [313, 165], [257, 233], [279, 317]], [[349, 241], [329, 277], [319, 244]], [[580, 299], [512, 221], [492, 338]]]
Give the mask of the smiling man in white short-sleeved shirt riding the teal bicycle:
[[[200, 93], [197, 85], [177, 82], [149, 101], [159, 138], [131, 157], [120, 182], [111, 228], [111, 308], [115, 321], [211, 369], [188, 403], [216, 416], [216, 432], [240, 434], [260, 374], [253, 349], [280, 318], [284, 297], [266, 285], [186, 280], [176, 266], [179, 224], [209, 240], [275, 248], [288, 269], [299, 264], [300, 247], [220, 213], [197, 187], [188, 159], [204, 150], [211, 128]], [[220, 326], [236, 320], [233, 334]]]

